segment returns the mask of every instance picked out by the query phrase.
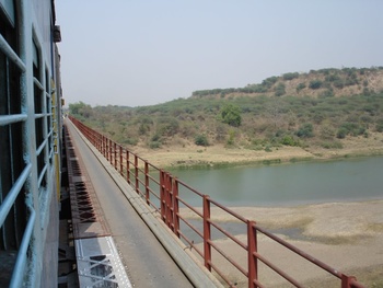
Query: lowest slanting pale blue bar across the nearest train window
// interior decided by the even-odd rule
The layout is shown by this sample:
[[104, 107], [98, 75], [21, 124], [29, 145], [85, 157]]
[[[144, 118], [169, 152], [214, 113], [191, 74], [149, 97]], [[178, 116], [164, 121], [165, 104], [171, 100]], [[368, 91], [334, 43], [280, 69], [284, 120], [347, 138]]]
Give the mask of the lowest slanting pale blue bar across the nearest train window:
[[9, 286], [12, 288], [13, 287], [21, 287], [21, 283], [24, 279], [25, 265], [26, 265], [26, 258], [27, 258], [26, 252], [27, 252], [27, 249], [28, 249], [28, 245], [31, 242], [31, 237], [32, 237], [34, 224], [35, 224], [35, 218], [36, 218], [35, 210], [31, 206], [28, 206], [28, 208], [30, 208], [30, 212], [31, 212], [30, 219], [28, 219], [28, 222], [26, 224], [23, 240], [22, 240], [20, 249], [19, 249], [16, 263], [14, 265], [11, 283]]

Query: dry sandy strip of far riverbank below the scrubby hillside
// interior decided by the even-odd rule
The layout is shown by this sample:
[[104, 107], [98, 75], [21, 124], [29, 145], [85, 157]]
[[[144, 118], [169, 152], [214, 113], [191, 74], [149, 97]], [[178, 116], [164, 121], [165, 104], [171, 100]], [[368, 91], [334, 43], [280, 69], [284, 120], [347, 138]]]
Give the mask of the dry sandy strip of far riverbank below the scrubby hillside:
[[135, 147], [132, 151], [162, 169], [276, 164], [383, 154], [383, 134], [371, 134], [368, 138], [349, 137], [340, 142], [341, 149], [282, 146], [265, 151], [242, 147], [225, 148], [223, 145], [200, 147], [194, 143], [170, 143], [160, 149]]

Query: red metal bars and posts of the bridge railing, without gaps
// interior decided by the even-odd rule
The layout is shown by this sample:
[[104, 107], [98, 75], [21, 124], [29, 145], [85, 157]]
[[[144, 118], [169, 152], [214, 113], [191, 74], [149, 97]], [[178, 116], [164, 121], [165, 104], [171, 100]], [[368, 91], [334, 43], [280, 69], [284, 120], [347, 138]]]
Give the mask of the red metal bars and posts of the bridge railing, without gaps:
[[[257, 252], [257, 234], [263, 233], [267, 238], [274, 240], [280, 245], [285, 246], [289, 251], [293, 252], [298, 256], [311, 262], [316, 267], [329, 273], [336, 278], [340, 279], [341, 288], [362, 288], [364, 287], [357, 281], [356, 277], [348, 276], [339, 270], [328, 266], [327, 264], [318, 261], [317, 258], [309, 255], [307, 253], [299, 250], [294, 245], [288, 243], [287, 241], [278, 238], [277, 235], [268, 232], [264, 228], [256, 224], [255, 221], [248, 220], [245, 217], [236, 214], [230, 208], [221, 205], [220, 203], [210, 199], [207, 195], [198, 192], [183, 181], [174, 177], [171, 173], [165, 172], [155, 165], [151, 164], [138, 154], [129, 151], [127, 148], [112, 141], [112, 139], [105, 137], [104, 135], [91, 129], [81, 122], [73, 117], [70, 117], [72, 123], [79, 128], [79, 130], [91, 141], [91, 143], [111, 162], [111, 164], [125, 177], [125, 180], [132, 185], [135, 191], [142, 197], [147, 199], [147, 204], [152, 206], [156, 211], [160, 212], [161, 219], [167, 224], [167, 227], [182, 240], [184, 240], [190, 247], [193, 247], [197, 254], [204, 260], [205, 266], [211, 272], [213, 269], [230, 287], [236, 287], [227, 275], [222, 273], [214, 260], [212, 258], [211, 249], [219, 253], [223, 258], [225, 258], [234, 268], [241, 272], [247, 277], [248, 287], [264, 287], [258, 279], [257, 261], [259, 260], [274, 272], [279, 274], [290, 284], [302, 287], [295, 279], [285, 273], [282, 269], [278, 268], [270, 261], [265, 258]], [[142, 169], [143, 168], [143, 169]], [[158, 173], [159, 180], [153, 176], [153, 173]], [[158, 192], [153, 189], [150, 185], [158, 186]], [[142, 187], [142, 188], [141, 188]], [[201, 199], [202, 211], [199, 211], [197, 207], [193, 207], [186, 200], [184, 200], [178, 195], [179, 187], [183, 187], [188, 193], [198, 196]], [[142, 191], [141, 191], [142, 189]], [[150, 196], [154, 199], [151, 199]], [[158, 200], [155, 204], [154, 200]], [[190, 223], [183, 217], [179, 212], [179, 204], [184, 205], [185, 208], [190, 210], [197, 218], [204, 223], [204, 230], [199, 231], [194, 224]], [[235, 235], [224, 230], [218, 221], [213, 221], [210, 217], [211, 208], [213, 205], [218, 209], [227, 212], [239, 222], [246, 224], [247, 229], [247, 243], [244, 243]], [[201, 238], [204, 243], [204, 250], [201, 250], [193, 240], [188, 239], [185, 231], [182, 231], [179, 221], [183, 221], [186, 227], [195, 232], [196, 235]], [[214, 243], [211, 239], [211, 227], [220, 231], [228, 239], [233, 241], [237, 246], [242, 247], [247, 252], [247, 267], [243, 267], [233, 260], [228, 252], [223, 251], [221, 247]]]

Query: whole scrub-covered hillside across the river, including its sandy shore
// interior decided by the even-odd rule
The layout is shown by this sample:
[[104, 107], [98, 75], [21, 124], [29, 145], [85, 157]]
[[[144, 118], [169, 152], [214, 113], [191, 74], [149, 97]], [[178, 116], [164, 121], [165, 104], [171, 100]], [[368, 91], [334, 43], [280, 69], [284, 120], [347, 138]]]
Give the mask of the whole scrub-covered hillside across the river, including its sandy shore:
[[383, 153], [383, 68], [286, 73], [153, 106], [69, 107], [161, 165]]

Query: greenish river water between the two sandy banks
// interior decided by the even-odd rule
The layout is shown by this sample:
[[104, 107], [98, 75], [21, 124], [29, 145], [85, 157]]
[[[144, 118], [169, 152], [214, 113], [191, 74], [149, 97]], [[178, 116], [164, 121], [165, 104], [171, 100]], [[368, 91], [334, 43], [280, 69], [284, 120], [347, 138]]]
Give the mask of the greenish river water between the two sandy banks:
[[[383, 157], [171, 171], [225, 206], [293, 206], [383, 198]], [[194, 197], [182, 195], [192, 205]]]

